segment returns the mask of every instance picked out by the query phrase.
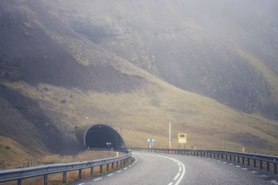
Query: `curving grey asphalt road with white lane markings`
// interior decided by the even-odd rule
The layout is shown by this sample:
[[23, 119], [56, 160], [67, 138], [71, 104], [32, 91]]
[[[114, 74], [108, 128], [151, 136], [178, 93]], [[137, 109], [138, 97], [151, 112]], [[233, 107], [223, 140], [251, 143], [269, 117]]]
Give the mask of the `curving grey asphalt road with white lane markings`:
[[134, 152], [136, 162], [102, 177], [82, 179], [86, 184], [278, 184], [275, 177], [252, 168], [215, 159]]

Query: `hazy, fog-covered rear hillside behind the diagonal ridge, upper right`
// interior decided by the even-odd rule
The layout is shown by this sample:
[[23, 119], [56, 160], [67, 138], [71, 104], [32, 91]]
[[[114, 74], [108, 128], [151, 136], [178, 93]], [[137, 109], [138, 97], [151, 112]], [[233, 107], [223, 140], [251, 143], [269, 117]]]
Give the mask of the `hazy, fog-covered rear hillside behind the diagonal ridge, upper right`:
[[277, 1], [56, 0], [46, 6], [67, 28], [172, 85], [278, 118]]

